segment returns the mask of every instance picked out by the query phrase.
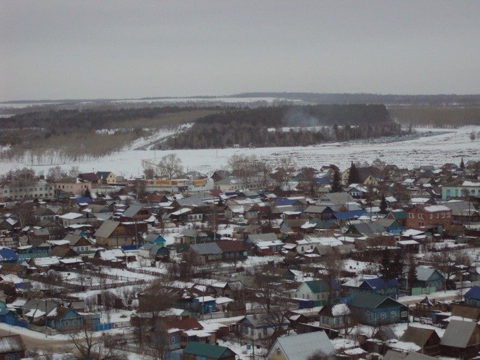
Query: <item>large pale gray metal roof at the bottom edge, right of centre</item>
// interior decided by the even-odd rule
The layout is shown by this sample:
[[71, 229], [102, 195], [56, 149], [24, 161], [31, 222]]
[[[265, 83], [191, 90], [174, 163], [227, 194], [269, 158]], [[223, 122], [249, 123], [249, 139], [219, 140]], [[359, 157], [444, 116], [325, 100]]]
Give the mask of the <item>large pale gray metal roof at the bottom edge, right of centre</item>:
[[335, 348], [324, 331], [315, 331], [300, 335], [278, 337], [269, 352], [275, 351], [280, 346], [289, 360], [304, 360], [318, 350], [325, 355], [335, 354]]

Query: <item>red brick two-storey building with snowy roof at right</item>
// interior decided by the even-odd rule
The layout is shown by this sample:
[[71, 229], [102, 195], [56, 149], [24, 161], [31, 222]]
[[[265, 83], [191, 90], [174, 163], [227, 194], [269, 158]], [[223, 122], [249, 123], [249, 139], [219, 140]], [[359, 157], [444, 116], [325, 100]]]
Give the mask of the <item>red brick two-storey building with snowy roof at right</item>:
[[448, 226], [452, 222], [452, 210], [444, 205], [416, 205], [407, 211], [407, 228]]

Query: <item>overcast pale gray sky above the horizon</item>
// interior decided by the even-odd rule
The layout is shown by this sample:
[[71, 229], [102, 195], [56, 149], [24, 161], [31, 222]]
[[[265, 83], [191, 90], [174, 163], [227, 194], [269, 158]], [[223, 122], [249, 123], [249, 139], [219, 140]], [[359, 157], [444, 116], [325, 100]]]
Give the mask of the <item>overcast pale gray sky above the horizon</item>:
[[0, 100], [480, 93], [480, 1], [0, 2]]

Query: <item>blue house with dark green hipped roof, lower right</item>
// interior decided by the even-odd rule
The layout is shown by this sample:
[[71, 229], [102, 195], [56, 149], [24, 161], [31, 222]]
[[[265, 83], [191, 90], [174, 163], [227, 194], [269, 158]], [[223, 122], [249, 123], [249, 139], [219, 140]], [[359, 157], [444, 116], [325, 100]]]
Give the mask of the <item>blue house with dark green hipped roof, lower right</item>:
[[379, 326], [408, 322], [408, 307], [388, 296], [357, 293], [348, 302], [348, 307], [360, 324]]

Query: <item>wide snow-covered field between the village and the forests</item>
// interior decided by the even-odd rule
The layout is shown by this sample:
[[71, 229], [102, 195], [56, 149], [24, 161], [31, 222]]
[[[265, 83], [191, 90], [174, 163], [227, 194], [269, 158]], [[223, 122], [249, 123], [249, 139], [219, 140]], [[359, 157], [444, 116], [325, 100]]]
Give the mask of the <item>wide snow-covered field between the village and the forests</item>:
[[[346, 169], [350, 161], [372, 162], [380, 158], [385, 163], [399, 167], [417, 167], [419, 165], [443, 165], [444, 163], [459, 163], [461, 156], [465, 160], [480, 159], [480, 141], [470, 140], [470, 133], [480, 132], [480, 126], [467, 126], [459, 129], [418, 129], [420, 132], [433, 132], [430, 136], [420, 136], [413, 140], [398, 140], [383, 143], [368, 141], [328, 143], [307, 147], [261, 147], [244, 149], [201, 149], [201, 150], [134, 150], [130, 146], [125, 151], [106, 156], [94, 161], [80, 163], [65, 163], [52, 165], [32, 165], [29, 163], [0, 163], [0, 173], [24, 166], [33, 167], [36, 171], [47, 172], [50, 167], [60, 165], [65, 169], [78, 166], [80, 171], [113, 171], [125, 177], [143, 173], [142, 160], [149, 159], [158, 162], [166, 154], [177, 154], [185, 170], [196, 170], [211, 173], [215, 169], [226, 166], [227, 159], [233, 154], [255, 154], [268, 158], [276, 165], [282, 157], [292, 155], [298, 167], [336, 164]], [[147, 141], [145, 141], [146, 143]], [[134, 144], [139, 147], [141, 142]]]

